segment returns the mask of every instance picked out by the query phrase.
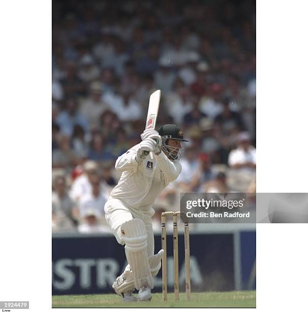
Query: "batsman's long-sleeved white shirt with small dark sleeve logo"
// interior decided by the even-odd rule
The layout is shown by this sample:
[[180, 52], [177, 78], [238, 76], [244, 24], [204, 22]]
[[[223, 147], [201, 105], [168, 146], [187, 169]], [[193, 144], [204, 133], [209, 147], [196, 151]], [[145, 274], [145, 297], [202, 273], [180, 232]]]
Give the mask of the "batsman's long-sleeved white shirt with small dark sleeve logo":
[[179, 176], [182, 166], [179, 161], [170, 161], [163, 152], [159, 155], [150, 152], [138, 164], [135, 160], [138, 149], [139, 144], [117, 159], [116, 170], [122, 172], [122, 175], [110, 197], [146, 211], [151, 208], [158, 194]]

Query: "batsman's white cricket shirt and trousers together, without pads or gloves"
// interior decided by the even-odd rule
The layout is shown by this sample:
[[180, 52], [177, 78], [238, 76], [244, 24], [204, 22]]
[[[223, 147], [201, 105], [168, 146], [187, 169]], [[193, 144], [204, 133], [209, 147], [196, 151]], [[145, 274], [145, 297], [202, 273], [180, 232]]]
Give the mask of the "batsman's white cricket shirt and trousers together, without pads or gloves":
[[116, 162], [122, 172], [118, 185], [111, 191], [105, 204], [105, 218], [118, 243], [124, 244], [121, 225], [133, 218], [142, 219], [148, 234], [148, 255], [154, 254], [154, 235], [151, 217], [152, 204], [158, 194], [181, 173], [179, 161], [170, 161], [161, 152], [150, 152], [140, 164], [135, 160], [139, 144], [133, 146]]

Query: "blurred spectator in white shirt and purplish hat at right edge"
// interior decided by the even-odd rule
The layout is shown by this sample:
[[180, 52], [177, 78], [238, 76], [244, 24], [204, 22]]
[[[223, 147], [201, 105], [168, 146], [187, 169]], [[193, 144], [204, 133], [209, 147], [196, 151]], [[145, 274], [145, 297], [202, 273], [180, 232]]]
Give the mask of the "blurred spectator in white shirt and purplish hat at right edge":
[[231, 150], [228, 165], [240, 171], [256, 171], [256, 148], [250, 145], [248, 132], [241, 132], [237, 136], [237, 148]]

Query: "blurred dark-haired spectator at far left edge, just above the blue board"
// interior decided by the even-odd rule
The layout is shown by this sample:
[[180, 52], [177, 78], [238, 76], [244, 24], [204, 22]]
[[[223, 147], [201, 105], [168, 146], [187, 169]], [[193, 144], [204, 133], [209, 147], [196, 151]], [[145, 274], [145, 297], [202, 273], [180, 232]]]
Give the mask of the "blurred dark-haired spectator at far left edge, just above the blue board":
[[66, 192], [65, 177], [56, 176], [52, 192], [52, 230], [73, 230], [76, 223], [73, 218], [75, 207], [76, 203]]

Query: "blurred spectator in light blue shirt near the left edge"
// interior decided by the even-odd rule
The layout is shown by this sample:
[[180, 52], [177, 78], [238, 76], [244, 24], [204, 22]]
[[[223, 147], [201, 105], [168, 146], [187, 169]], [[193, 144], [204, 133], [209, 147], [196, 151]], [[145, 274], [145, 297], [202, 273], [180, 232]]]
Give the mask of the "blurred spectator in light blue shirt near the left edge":
[[61, 133], [68, 137], [72, 136], [75, 125], [80, 125], [86, 133], [89, 131], [89, 123], [78, 112], [78, 103], [73, 97], [67, 99], [65, 110], [57, 116], [55, 122], [60, 126]]

